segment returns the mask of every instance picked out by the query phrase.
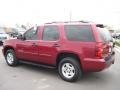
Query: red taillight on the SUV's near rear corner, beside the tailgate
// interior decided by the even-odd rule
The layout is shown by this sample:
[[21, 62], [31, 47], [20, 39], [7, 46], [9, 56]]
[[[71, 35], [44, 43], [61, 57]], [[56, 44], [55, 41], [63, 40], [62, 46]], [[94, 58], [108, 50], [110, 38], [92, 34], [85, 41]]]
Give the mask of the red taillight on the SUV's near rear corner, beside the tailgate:
[[96, 45], [96, 58], [103, 58], [103, 44], [102, 43], [97, 43]]

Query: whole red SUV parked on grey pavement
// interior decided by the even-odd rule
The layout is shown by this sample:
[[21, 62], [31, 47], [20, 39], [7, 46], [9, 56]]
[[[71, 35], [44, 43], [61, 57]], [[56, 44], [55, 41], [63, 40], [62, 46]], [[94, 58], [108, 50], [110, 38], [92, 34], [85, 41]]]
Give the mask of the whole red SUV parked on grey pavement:
[[52, 66], [63, 80], [73, 82], [85, 72], [98, 72], [113, 64], [113, 48], [112, 37], [102, 24], [54, 22], [7, 40], [3, 54], [9, 66], [20, 61]]

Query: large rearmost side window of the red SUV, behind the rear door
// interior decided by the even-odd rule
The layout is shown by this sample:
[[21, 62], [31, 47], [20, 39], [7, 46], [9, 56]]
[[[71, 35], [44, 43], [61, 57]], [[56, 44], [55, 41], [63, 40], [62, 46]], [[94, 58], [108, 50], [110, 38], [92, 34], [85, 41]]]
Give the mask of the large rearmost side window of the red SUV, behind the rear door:
[[92, 28], [89, 25], [65, 25], [65, 33], [70, 41], [95, 41]]

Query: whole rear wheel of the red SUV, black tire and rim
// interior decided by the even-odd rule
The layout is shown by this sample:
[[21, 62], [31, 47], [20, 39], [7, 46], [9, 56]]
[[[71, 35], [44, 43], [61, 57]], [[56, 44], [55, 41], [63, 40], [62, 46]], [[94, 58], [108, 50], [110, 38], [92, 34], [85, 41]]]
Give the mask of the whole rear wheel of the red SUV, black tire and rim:
[[60, 77], [68, 82], [75, 82], [82, 77], [80, 64], [75, 58], [63, 58], [59, 63], [58, 71]]

